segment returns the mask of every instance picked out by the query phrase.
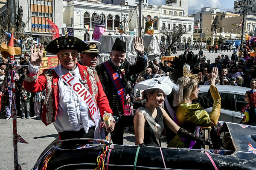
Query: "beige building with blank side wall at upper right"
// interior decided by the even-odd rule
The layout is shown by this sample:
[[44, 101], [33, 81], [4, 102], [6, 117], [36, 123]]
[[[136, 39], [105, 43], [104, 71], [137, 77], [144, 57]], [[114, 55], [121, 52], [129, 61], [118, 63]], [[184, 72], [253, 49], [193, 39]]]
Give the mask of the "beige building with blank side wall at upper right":
[[[216, 26], [217, 34], [214, 31], [214, 20], [218, 19]], [[243, 15], [233, 13], [209, 13], [202, 15], [201, 28], [199, 33], [194, 33], [194, 44], [213, 45], [218, 44], [220, 38], [224, 40], [241, 40], [242, 26], [239, 28], [232, 24], [241, 23]], [[254, 33], [256, 28], [256, 16], [247, 15], [244, 22], [244, 37], [246, 34]], [[215, 40], [215, 41], [214, 41]]]

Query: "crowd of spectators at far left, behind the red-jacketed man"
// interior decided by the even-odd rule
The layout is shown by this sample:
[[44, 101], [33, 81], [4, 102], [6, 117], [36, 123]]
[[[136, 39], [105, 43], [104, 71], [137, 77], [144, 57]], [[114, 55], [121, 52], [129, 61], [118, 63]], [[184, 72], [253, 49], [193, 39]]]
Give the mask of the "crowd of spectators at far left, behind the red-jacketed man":
[[[17, 77], [15, 77], [15, 96], [16, 96], [16, 109], [17, 109], [17, 116], [20, 116], [21, 119], [29, 119], [33, 118], [40, 118], [42, 105], [41, 103], [44, 102], [44, 95], [45, 92], [38, 92], [38, 93], [30, 93], [25, 90], [23, 86], [25, 72], [28, 68], [30, 61], [29, 61], [29, 54], [25, 53], [23, 57], [20, 57], [20, 62], [16, 65], [20, 65], [21, 68], [17, 70]], [[4, 59], [2, 63], [0, 63], [0, 94], [3, 94], [1, 97], [1, 113], [6, 114], [6, 120], [12, 119], [10, 116], [11, 108], [12, 108], [12, 92], [8, 89], [8, 67], [9, 67], [9, 60]]]

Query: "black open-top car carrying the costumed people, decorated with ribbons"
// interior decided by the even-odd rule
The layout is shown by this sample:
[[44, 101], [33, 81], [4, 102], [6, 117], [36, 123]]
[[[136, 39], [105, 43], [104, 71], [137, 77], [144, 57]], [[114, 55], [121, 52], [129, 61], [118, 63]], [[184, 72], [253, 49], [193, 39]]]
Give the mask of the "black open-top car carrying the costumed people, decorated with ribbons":
[[210, 129], [202, 128], [201, 133], [212, 140], [212, 148], [115, 145], [106, 140], [72, 139], [83, 144], [67, 149], [61, 144], [66, 141], [56, 139], [32, 170], [256, 170], [255, 126], [218, 122]]

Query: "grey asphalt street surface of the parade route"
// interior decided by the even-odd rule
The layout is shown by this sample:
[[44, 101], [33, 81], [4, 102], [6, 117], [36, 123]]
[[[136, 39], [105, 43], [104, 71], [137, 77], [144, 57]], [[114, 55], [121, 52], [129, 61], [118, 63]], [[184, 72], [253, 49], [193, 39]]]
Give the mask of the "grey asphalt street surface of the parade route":
[[[198, 50], [199, 51], [199, 50]], [[197, 54], [198, 51], [194, 51]], [[184, 51], [177, 51], [177, 56], [183, 54]], [[208, 53], [204, 51], [206, 59], [214, 62], [218, 55], [228, 55], [231, 57], [232, 52]], [[0, 114], [0, 170], [13, 170], [13, 131], [12, 120], [6, 121], [5, 115]], [[36, 119], [21, 119], [17, 117], [17, 133], [29, 144], [18, 143], [18, 163], [22, 170], [31, 170], [41, 152], [53, 140], [58, 137], [58, 133], [54, 126], [45, 126], [41, 120]], [[125, 131], [125, 144], [135, 144], [134, 133]], [[166, 147], [165, 141], [162, 141], [162, 146]]]

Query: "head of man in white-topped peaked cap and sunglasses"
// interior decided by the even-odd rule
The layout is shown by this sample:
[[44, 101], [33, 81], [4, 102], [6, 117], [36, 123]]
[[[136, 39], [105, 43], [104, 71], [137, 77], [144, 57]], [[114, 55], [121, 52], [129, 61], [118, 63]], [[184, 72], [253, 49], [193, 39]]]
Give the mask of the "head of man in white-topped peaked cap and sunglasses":
[[99, 58], [99, 41], [87, 41], [84, 50], [80, 53], [79, 64], [95, 68]]

